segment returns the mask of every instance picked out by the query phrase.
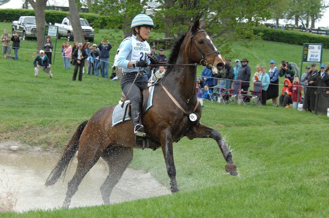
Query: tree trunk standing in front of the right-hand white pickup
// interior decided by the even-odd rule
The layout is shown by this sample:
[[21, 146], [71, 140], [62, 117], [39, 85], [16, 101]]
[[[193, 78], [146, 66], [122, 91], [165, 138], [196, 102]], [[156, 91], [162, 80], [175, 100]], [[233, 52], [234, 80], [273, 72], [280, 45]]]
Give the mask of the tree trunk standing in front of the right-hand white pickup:
[[80, 2], [75, 0], [68, 1], [70, 13], [67, 15], [67, 18], [70, 20], [73, 32], [74, 39], [76, 42], [84, 43], [83, 31], [80, 23], [79, 7], [81, 7]]

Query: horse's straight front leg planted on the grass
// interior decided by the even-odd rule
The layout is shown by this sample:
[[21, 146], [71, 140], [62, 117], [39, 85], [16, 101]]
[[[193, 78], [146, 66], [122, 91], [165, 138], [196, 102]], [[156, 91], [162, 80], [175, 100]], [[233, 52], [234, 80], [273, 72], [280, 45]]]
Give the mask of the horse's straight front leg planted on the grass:
[[165, 156], [165, 162], [167, 167], [167, 173], [170, 178], [170, 188], [171, 192], [178, 192], [177, 181], [176, 181], [176, 168], [174, 163], [174, 154], [173, 154], [173, 137], [169, 130], [165, 130], [161, 133], [160, 143]]

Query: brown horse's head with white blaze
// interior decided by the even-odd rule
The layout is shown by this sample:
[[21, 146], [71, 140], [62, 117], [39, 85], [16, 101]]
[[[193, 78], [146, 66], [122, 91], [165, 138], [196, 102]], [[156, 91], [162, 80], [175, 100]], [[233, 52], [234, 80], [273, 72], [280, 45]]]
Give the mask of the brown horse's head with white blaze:
[[189, 58], [194, 63], [200, 63], [204, 67], [212, 69], [214, 74], [223, 73], [225, 59], [217, 50], [212, 38], [205, 31], [205, 24], [200, 26], [197, 20], [190, 29]]

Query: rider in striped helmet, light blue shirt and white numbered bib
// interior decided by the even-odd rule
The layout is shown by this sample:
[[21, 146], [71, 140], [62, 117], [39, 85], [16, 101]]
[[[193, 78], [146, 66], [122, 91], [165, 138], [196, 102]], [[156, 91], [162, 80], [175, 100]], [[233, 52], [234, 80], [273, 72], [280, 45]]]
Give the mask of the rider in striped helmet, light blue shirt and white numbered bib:
[[140, 123], [141, 90], [148, 87], [143, 71], [150, 70], [148, 67], [150, 60], [145, 58], [145, 54], [151, 53], [150, 45], [146, 40], [152, 27], [155, 25], [151, 17], [146, 14], [136, 15], [131, 25], [133, 35], [123, 39], [117, 58], [117, 66], [122, 67], [121, 88], [131, 101], [134, 134], [137, 136], [145, 136], [144, 127]]

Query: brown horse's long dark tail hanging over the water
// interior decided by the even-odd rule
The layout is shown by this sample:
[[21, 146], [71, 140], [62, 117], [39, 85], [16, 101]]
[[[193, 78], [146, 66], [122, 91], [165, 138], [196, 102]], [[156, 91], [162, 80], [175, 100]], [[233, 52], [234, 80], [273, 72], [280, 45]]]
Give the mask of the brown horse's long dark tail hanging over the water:
[[79, 139], [87, 123], [88, 121], [85, 121], [79, 125], [78, 129], [72, 136], [70, 142], [67, 144], [66, 148], [64, 149], [62, 156], [58, 161], [57, 165], [51, 170], [45, 184], [46, 186], [55, 184], [62, 175], [65, 175], [68, 164], [70, 163], [72, 157], [75, 155], [75, 153], [78, 150]]

